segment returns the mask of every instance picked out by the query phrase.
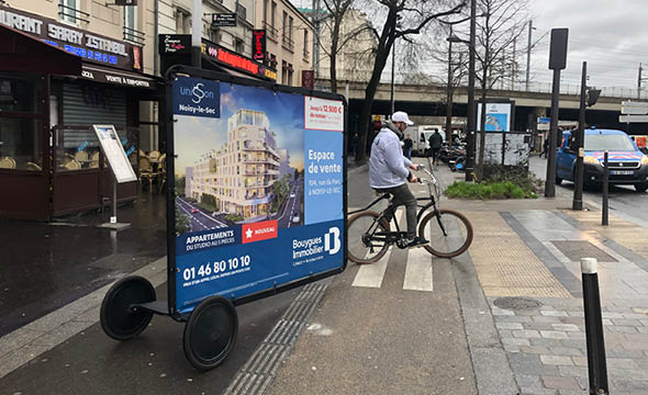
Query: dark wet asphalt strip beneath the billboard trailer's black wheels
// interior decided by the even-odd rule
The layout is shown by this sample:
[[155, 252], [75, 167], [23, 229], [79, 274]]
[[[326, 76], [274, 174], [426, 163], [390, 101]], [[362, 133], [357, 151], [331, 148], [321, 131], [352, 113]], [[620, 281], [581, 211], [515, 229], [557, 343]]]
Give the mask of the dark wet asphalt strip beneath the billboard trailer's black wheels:
[[[238, 338], [216, 369], [193, 369], [183, 323], [154, 316], [139, 337], [119, 342], [96, 324], [0, 380], [2, 394], [221, 394], [300, 289], [238, 306]], [[166, 284], [156, 290], [166, 298]], [[46, 388], [46, 390], [45, 390]]]

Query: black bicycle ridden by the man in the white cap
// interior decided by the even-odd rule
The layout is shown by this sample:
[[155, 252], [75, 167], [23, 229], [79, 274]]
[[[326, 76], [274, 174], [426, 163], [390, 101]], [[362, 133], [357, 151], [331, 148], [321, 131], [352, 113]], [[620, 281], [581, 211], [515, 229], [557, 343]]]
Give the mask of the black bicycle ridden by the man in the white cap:
[[[416, 199], [416, 201], [427, 202], [418, 205], [416, 214], [418, 236], [429, 240], [429, 244], [422, 247], [439, 258], [457, 257], [466, 252], [472, 242], [472, 225], [463, 214], [437, 207], [436, 178], [424, 167], [421, 167], [421, 170], [429, 176], [429, 180], [420, 179], [418, 181], [427, 185], [429, 196]], [[389, 193], [384, 193], [365, 208], [349, 213], [351, 216], [348, 219], [347, 233], [348, 257], [351, 261], [359, 264], [373, 263], [387, 253], [391, 245], [396, 245], [401, 249], [407, 248], [407, 233], [400, 229], [396, 219], [396, 208], [402, 204], [390, 201], [388, 207], [381, 213], [369, 210], [390, 196]], [[392, 222], [395, 228], [393, 232], [390, 229]]]

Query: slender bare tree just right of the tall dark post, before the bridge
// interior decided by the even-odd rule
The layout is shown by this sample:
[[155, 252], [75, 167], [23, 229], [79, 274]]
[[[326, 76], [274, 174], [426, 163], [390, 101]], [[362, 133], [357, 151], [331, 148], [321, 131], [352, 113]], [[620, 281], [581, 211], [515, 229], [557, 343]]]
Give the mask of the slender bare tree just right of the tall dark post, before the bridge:
[[[516, 70], [516, 43], [522, 43], [521, 36], [525, 32], [528, 21], [527, 0], [476, 0], [481, 18], [477, 21], [476, 58], [481, 72], [477, 79], [481, 84], [481, 116], [479, 134], [479, 155], [477, 177], [483, 174], [483, 155], [485, 145], [485, 103], [488, 91], [506, 78], [514, 78]], [[521, 48], [521, 52], [526, 50]]]

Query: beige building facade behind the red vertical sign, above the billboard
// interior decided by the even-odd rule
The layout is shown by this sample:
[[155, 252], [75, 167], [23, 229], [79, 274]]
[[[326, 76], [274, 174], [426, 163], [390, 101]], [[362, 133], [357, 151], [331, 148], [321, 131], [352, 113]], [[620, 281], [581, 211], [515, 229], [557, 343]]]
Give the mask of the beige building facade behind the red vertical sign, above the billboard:
[[266, 65], [277, 70], [277, 82], [302, 86], [302, 71], [313, 70], [314, 30], [288, 0], [256, 0], [255, 25], [266, 31]]

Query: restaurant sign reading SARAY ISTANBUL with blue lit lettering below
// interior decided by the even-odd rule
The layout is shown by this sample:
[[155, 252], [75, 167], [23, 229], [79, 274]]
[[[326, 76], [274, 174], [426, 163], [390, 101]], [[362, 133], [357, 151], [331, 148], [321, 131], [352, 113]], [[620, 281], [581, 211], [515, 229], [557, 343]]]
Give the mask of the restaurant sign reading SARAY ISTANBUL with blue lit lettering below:
[[0, 23], [77, 55], [86, 61], [142, 71], [142, 48], [53, 19], [0, 5]]

